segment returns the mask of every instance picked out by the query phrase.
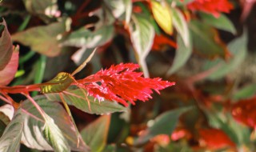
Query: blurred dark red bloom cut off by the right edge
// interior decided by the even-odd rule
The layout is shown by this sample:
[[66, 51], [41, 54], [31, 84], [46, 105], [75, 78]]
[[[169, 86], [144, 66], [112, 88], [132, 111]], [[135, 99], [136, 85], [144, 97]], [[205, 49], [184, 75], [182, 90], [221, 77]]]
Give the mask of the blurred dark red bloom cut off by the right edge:
[[256, 126], [256, 97], [243, 99], [234, 103], [232, 106], [232, 115], [235, 120], [242, 122], [247, 126]]

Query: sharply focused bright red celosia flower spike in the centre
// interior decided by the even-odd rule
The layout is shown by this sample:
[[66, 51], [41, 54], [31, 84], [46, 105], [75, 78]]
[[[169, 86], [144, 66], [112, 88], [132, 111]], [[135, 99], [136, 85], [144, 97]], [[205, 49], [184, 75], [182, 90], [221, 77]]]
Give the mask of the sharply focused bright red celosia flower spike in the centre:
[[137, 100], [145, 102], [151, 98], [152, 90], [159, 94], [158, 90], [174, 85], [174, 82], [162, 81], [161, 78], [143, 78], [142, 72], [134, 71], [138, 67], [134, 63], [111, 66], [82, 79], [83, 87], [99, 101], [114, 100], [128, 106], [127, 101], [133, 105]]

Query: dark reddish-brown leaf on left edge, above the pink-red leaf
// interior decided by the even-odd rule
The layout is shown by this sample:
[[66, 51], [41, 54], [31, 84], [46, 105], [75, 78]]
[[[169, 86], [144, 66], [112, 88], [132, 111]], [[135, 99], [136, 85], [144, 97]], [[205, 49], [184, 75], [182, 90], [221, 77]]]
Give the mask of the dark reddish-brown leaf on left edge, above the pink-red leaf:
[[[13, 54], [13, 44], [6, 26], [6, 21], [0, 18], [0, 70], [3, 70]], [[0, 85], [1, 86], [1, 85]]]

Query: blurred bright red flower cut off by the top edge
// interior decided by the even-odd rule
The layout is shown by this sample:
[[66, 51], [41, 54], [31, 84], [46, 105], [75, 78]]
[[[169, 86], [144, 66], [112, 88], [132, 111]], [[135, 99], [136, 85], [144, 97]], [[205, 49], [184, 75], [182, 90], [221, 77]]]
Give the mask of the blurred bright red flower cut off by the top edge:
[[221, 12], [230, 13], [233, 6], [228, 0], [194, 0], [187, 5], [187, 8], [213, 14], [215, 18], [218, 18]]

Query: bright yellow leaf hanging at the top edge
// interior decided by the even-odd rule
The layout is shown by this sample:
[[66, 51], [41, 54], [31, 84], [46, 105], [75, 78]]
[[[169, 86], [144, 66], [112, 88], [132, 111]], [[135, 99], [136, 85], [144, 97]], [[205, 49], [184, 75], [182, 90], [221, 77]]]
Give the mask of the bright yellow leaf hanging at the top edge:
[[173, 33], [173, 22], [170, 7], [166, 3], [159, 3], [151, 1], [152, 13], [158, 25], [166, 32], [166, 34]]

